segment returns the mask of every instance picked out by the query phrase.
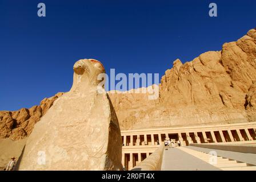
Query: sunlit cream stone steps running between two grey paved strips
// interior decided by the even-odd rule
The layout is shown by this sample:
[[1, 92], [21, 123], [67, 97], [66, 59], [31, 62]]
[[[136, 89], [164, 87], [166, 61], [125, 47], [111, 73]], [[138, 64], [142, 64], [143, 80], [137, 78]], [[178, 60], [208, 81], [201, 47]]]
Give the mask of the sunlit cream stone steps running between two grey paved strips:
[[237, 160], [207, 154], [205, 152], [191, 150], [190, 148], [186, 148], [186, 147], [177, 147], [177, 148], [223, 171], [256, 171], [256, 166], [253, 164], [243, 163]]

